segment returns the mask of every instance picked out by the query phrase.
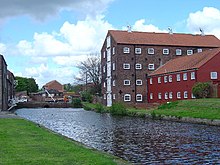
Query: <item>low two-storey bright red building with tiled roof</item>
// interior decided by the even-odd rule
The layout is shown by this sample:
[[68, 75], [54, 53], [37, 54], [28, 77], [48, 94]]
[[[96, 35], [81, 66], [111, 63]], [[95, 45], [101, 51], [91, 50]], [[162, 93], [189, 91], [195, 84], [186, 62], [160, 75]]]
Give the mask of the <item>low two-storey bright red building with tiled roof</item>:
[[148, 102], [163, 103], [195, 98], [196, 82], [211, 82], [213, 97], [220, 97], [220, 48], [170, 60], [149, 74]]

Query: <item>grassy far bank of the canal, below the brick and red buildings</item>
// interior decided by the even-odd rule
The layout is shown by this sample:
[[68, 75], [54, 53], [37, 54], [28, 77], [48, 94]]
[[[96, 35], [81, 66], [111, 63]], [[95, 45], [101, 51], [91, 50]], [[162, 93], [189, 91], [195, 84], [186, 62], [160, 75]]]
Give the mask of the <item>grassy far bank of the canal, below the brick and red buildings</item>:
[[[96, 105], [91, 103], [83, 103], [87, 109], [96, 109]], [[98, 106], [99, 107], [99, 106]], [[182, 100], [162, 104], [153, 109], [135, 109], [125, 107], [127, 116], [145, 117], [146, 115], [165, 115], [176, 117], [190, 117], [201, 119], [219, 119], [220, 120], [220, 99], [193, 99]], [[103, 107], [102, 112], [110, 112], [110, 109]]]

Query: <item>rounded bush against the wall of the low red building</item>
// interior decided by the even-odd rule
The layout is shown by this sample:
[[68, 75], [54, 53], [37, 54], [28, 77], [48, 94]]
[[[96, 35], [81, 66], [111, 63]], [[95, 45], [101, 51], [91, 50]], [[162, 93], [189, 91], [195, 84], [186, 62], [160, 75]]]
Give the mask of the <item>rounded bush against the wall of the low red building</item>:
[[210, 95], [211, 86], [208, 82], [196, 83], [192, 88], [192, 93], [196, 98], [207, 98]]

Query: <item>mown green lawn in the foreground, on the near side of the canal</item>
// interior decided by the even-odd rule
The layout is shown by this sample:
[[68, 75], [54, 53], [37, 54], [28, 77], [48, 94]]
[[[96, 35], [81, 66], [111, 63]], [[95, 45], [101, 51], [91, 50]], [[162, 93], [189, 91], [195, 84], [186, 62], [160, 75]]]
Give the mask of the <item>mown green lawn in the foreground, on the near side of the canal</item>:
[[0, 164], [113, 165], [123, 160], [88, 149], [23, 119], [0, 119]]

